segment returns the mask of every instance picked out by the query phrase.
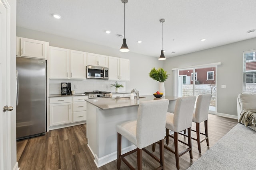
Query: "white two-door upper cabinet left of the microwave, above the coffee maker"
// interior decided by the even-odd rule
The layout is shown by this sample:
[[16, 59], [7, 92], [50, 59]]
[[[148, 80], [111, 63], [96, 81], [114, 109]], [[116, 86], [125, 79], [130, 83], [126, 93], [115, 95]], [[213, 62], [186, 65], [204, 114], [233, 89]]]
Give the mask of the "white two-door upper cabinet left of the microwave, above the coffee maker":
[[86, 79], [86, 53], [50, 47], [50, 78]]

